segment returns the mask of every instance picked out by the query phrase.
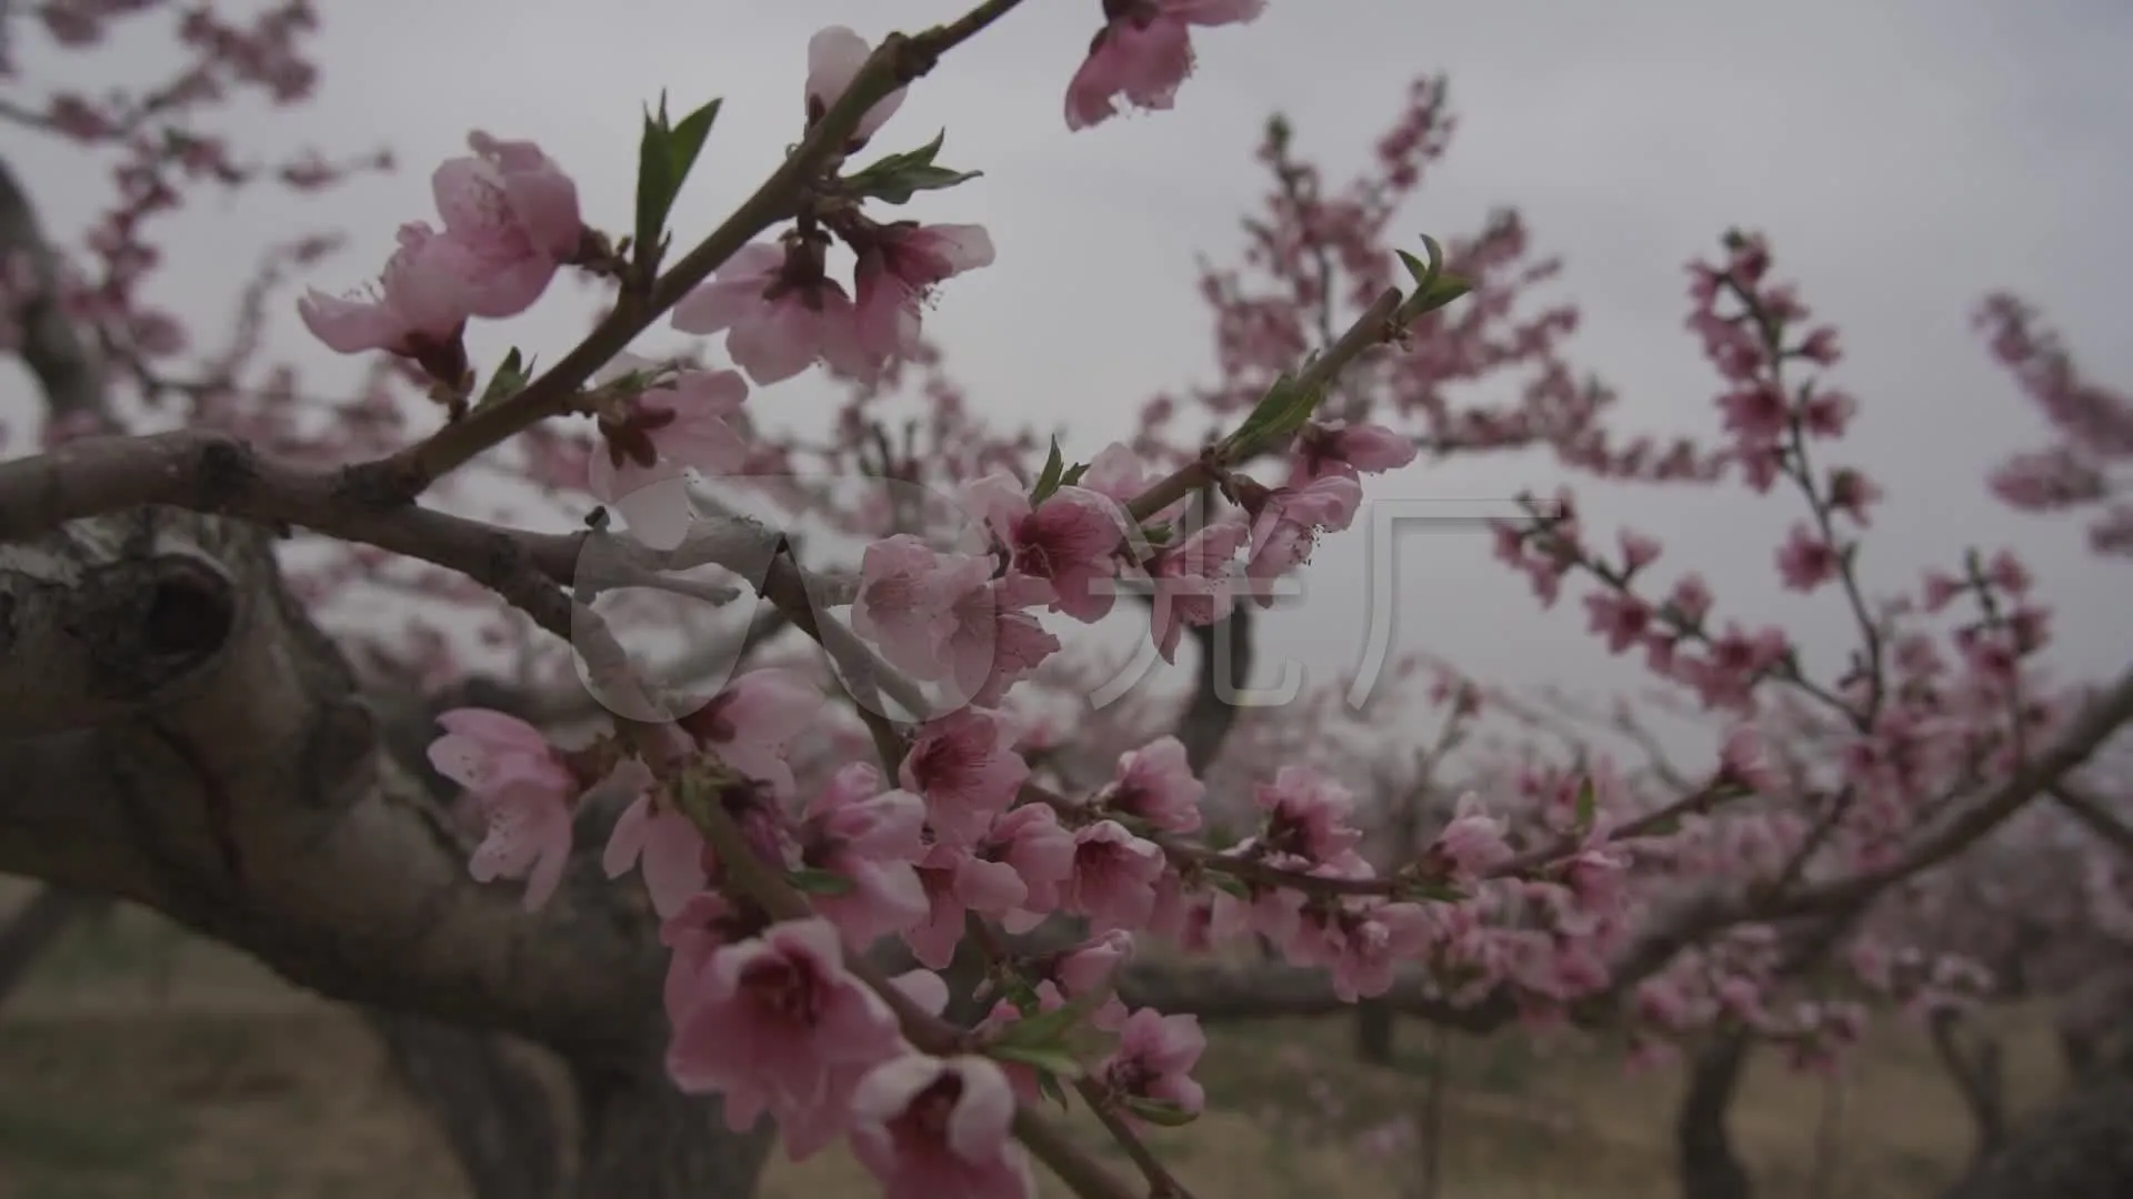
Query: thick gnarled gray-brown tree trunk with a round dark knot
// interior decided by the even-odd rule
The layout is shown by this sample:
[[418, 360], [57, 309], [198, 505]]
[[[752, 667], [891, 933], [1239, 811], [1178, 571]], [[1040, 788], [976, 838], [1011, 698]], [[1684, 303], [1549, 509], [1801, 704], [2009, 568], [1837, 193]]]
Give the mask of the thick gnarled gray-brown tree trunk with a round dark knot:
[[[587, 862], [542, 913], [467, 879], [463, 834], [284, 589], [271, 533], [139, 508], [4, 544], [0, 651], [0, 870], [141, 902], [373, 1007], [484, 1199], [552, 1186], [559, 1167], [503, 1163], [538, 1156], [552, 1118], [493, 1037], [459, 1028], [606, 1080], [580, 1195], [753, 1188], [759, 1137], [659, 1073], [648, 913]], [[646, 1146], [665, 1156], [634, 1161]]]

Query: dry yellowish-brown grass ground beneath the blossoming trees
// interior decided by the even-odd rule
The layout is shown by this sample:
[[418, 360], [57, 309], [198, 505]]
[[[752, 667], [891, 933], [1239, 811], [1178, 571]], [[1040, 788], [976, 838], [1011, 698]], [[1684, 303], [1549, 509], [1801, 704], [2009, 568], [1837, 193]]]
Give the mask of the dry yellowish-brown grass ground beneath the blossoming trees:
[[[0, 900], [4, 902], [4, 900]], [[2020, 1101], [2052, 1086], [2039, 1028], [2014, 1028]], [[1203, 1199], [1395, 1199], [1406, 1158], [1310, 1137], [1331, 1080], [1350, 1129], [1425, 1090], [1425, 1028], [1401, 1065], [1348, 1065], [1337, 1022], [1222, 1028], [1203, 1067], [1216, 1109], [1156, 1139]], [[1316, 1062], [1303, 1069], [1303, 1062]], [[1653, 1199], [1672, 1193], [1677, 1071], [1625, 1080], [1602, 1052], [1453, 1041], [1444, 1199]], [[1830, 1088], [1762, 1060], [1734, 1116], [1768, 1199], [1805, 1197]], [[1928, 1197], [1967, 1124], [1924, 1041], [1886, 1024], [1841, 1094], [1837, 1182], [1822, 1199]], [[1094, 1141], [1092, 1141], [1094, 1144]], [[770, 1199], [872, 1190], [853, 1165], [779, 1163]], [[1052, 1190], [1056, 1193], [1056, 1190]], [[437, 1135], [399, 1094], [363, 1024], [252, 962], [141, 913], [77, 930], [0, 1013], [0, 1199], [456, 1199]]]

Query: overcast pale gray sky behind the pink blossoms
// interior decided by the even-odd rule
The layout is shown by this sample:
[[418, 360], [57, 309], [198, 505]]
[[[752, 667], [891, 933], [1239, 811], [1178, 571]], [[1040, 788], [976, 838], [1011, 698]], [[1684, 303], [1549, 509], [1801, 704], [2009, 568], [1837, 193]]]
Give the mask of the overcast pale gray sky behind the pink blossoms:
[[[1069, 134], [1062, 90], [1096, 26], [1094, 0], [1032, 0], [924, 81], [877, 139], [917, 145], [947, 128], [943, 162], [981, 169], [924, 198], [932, 222], [981, 220], [998, 265], [956, 279], [928, 326], [990, 414], [1052, 422], [1069, 452], [1130, 429], [1139, 403], [1212, 371], [1194, 254], [1226, 258], [1263, 177], [1252, 147], [1269, 111], [1333, 177], [1367, 154], [1414, 75], [1444, 70], [1461, 128], [1410, 233], [1461, 235], [1519, 205], [1536, 243], [1561, 252], [1559, 294], [1583, 303], [1581, 365], [1623, 393], [1621, 420], [1711, 433], [1715, 380], [1683, 331], [1683, 262], [1730, 224], [1773, 237], [1781, 273], [1841, 324], [1837, 384], [1864, 401], [1843, 452], [1890, 493], [1866, 576], [1911, 582], [1967, 544], [2018, 544], [2060, 610], [2063, 659], [2086, 674], [2133, 653], [2133, 576], [2090, 559], [2080, 529], [2005, 512], [1986, 467], [2041, 439], [2041, 425], [1969, 331], [1975, 301], [2007, 286], [2046, 305], [2082, 363], [2133, 384], [2124, 279], [2133, 277], [2133, 6], [2116, 0], [1621, 0], [1433, 4], [1273, 0], [1254, 26], [1197, 38], [1199, 75], [1175, 113]], [[314, 226], [352, 235], [316, 282], [375, 273], [401, 220], [429, 218], [429, 169], [469, 128], [535, 139], [580, 181], [587, 218], [623, 228], [640, 102], [723, 96], [719, 128], [676, 209], [683, 237], [723, 215], [796, 139], [806, 38], [849, 23], [875, 38], [960, 11], [953, 0], [371, 0], [324, 4], [324, 87], [301, 111], [232, 117], [254, 149], [388, 143], [397, 175], [292, 205], [258, 194], [175, 222], [160, 294], [226, 311], [269, 239]], [[154, 77], [154, 38], [102, 51], [102, 77]], [[34, 81], [81, 79], [79, 55], [23, 53]], [[58, 228], [107, 196], [64, 147], [9, 130], [6, 154]], [[552, 361], [584, 329], [582, 292], [474, 333], [478, 361], [508, 343]], [[324, 380], [346, 363], [284, 309], [277, 346]], [[661, 331], [640, 346], [676, 341]], [[798, 380], [757, 412], [817, 422], [836, 393]], [[1380, 495], [1493, 497], [1551, 491], [1540, 457], [1410, 471]], [[1668, 544], [1668, 574], [1698, 565], [1723, 612], [1796, 621], [1809, 644], [1843, 644], [1834, 595], [1781, 595], [1781, 497], [1581, 486], [1610, 538], [1632, 523]], [[1487, 538], [1416, 538], [1401, 553], [1401, 644], [1427, 644], [1506, 681], [1638, 685], [1583, 634], [1574, 600], [1542, 617], [1525, 585], [1487, 561]], [[1312, 597], [1269, 623], [1271, 657], [1316, 678], [1361, 653], [1363, 538], [1320, 550]], [[1826, 657], [1824, 657], [1826, 661]]]

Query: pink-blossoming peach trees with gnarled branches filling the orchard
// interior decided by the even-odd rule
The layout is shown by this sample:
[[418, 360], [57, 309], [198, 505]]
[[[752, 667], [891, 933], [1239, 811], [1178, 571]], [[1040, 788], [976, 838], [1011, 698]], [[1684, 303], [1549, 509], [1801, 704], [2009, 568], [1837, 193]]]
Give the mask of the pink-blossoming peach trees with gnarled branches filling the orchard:
[[[267, 258], [220, 350], [198, 314], [141, 299], [156, 218], [188, 194], [386, 164], [260, 166], [196, 124], [243, 90], [307, 94], [309, 4], [183, 13], [192, 60], [156, 87], [9, 100], [17, 126], [111, 156], [119, 198], [66, 252], [34, 181], [0, 175], [6, 337], [43, 403], [41, 446], [0, 463], [21, 781], [0, 866], [147, 902], [369, 1005], [388, 1037], [414, 1013], [555, 1050], [591, 1109], [580, 1195], [742, 1193], [768, 1116], [791, 1158], [847, 1144], [892, 1197], [1024, 1197], [1039, 1169], [1086, 1197], [1184, 1197], [1141, 1131], [1220, 1101], [1192, 1077], [1194, 1007], [1224, 988], [1267, 1011], [1574, 1022], [1632, 1065], [1755, 1039], [1826, 1067], [1879, 1001], [1947, 1020], [2005, 994], [2022, 943], [2122, 958], [2110, 745], [2133, 672], [2052, 681], [2050, 606], [2007, 550], [1869, 591], [1881, 489], [1841, 457], [1860, 399], [1760, 235], [1689, 267], [1717, 435], [1613, 433], [1613, 395], [1561, 354], [1574, 309], [1521, 303], [1553, 262], [1517, 215], [1442, 245], [1401, 230], [1446, 145], [1440, 81], [1346, 186], [1269, 124], [1246, 262], [1201, 279], [1214, 386], [1148, 403], [1088, 461], [988, 422], [924, 311], [1011, 256], [924, 220], [979, 171], [894, 117], [1017, 6], [793, 47], [798, 141], [708, 233], [668, 218], [717, 156], [719, 100], [646, 109], [629, 213], [582, 211], [540, 130], [471, 132], [433, 171], [435, 213], [354, 230], [373, 284], [294, 301], [375, 365], [337, 403], [262, 363], [286, 275], [328, 239]], [[1263, 9], [1105, 0], [1066, 126], [1094, 141], [1190, 102], [1194, 51]], [[75, 49], [160, 11], [30, 9]], [[610, 297], [591, 333], [469, 356], [469, 322], [563, 275]], [[2020, 301], [1979, 322], [2054, 435], [1992, 489], [2084, 510], [2095, 550], [2127, 553], [2133, 405]], [[708, 341], [629, 350], [663, 329]], [[766, 433], [761, 395], [811, 371], [849, 386], [834, 427]], [[1448, 399], [1489, 380], [1514, 395]], [[1811, 670], [1563, 486], [1495, 523], [1495, 557], [1638, 655], [1711, 728], [1704, 762], [1677, 766], [1632, 710], [1600, 721], [1613, 747], [1566, 736], [1423, 653], [1239, 702], [1254, 612], [1322, 538], [1369, 527], [1378, 476], [1531, 448], [1561, 474], [1792, 503], [1745, 585], [1849, 612], [1847, 668]], [[305, 610], [378, 591], [405, 625], [343, 612], [339, 649]], [[1081, 625], [1135, 629], [1128, 661]], [[518, 683], [463, 678], [484, 655]], [[1182, 696], [1148, 683], [1186, 664]], [[1384, 691], [1363, 719], [1357, 691]], [[410, 774], [395, 721], [424, 728], [448, 787]], [[143, 809], [158, 777], [171, 794]], [[2041, 924], [1986, 920], [2016, 909]], [[1194, 956], [1222, 966], [1171, 971]], [[1094, 1114], [1135, 1176], [1058, 1107]], [[497, 1184], [482, 1137], [454, 1141]], [[1698, 1169], [1683, 1184], [1717, 1195]]]

